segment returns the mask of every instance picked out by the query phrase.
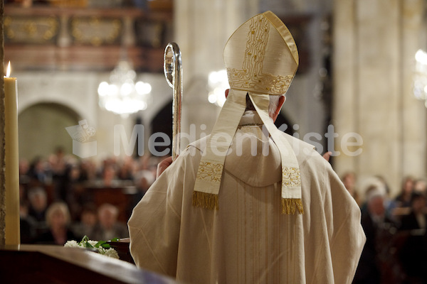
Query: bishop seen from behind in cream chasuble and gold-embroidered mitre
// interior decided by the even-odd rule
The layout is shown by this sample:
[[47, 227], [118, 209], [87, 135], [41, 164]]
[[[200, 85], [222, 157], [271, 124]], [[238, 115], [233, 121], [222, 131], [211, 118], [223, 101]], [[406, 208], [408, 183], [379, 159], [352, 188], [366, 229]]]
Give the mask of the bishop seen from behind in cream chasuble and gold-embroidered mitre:
[[184, 283], [352, 282], [365, 242], [359, 207], [325, 158], [273, 124], [298, 60], [270, 11], [231, 35], [231, 89], [214, 130], [132, 212], [137, 266]]

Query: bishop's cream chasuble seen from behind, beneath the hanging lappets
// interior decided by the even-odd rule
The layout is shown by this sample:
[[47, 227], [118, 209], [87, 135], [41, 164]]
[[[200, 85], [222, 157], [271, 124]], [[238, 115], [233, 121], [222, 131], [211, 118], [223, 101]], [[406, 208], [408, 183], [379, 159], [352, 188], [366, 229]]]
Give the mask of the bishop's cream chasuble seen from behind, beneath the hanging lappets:
[[258, 124], [246, 111], [223, 167], [220, 209], [192, 206], [207, 138], [154, 182], [128, 223], [137, 266], [184, 283], [352, 282], [365, 241], [357, 203], [312, 146], [283, 133], [300, 165], [304, 214], [282, 214], [280, 153]]

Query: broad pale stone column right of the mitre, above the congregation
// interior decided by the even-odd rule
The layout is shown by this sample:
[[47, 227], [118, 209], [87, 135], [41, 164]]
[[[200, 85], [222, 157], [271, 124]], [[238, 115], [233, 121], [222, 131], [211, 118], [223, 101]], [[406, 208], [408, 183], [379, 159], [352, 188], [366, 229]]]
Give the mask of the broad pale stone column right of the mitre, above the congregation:
[[[391, 195], [404, 175], [426, 173], [426, 109], [411, 92], [423, 13], [422, 0], [334, 1], [334, 168], [381, 175]], [[360, 155], [339, 140], [349, 132], [363, 138]]]

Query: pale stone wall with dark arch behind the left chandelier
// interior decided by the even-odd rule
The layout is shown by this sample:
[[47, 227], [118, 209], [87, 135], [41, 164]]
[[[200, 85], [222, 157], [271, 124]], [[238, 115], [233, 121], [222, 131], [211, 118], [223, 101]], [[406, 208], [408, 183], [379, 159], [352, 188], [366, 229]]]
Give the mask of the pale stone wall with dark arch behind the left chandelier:
[[[18, 78], [18, 107], [19, 114], [23, 114], [28, 108], [38, 104], [51, 104], [52, 107], [60, 106], [69, 109], [70, 113], [75, 114], [75, 124], [78, 120], [86, 119], [90, 126], [96, 130], [97, 156], [95, 160], [101, 160], [107, 156], [114, 155], [114, 126], [117, 124], [125, 126], [125, 132], [129, 139], [132, 133], [133, 125], [137, 116], [142, 117], [145, 126], [145, 146], [149, 138], [149, 124], [157, 112], [172, 100], [172, 89], [167, 84], [163, 74], [142, 74], [139, 80], [152, 84], [152, 104], [149, 109], [139, 114], [132, 114], [128, 117], [121, 117], [112, 114], [110, 111], [100, 109], [98, 106], [97, 85], [103, 80], [108, 80], [108, 72], [17, 72], [14, 74]], [[28, 119], [26, 119], [28, 121]], [[58, 138], [58, 141], [67, 141], [65, 146], [70, 154], [72, 148], [72, 139], [68, 137], [65, 127], [75, 124], [58, 126], [56, 129], [44, 129], [51, 124], [37, 124], [35, 118], [31, 124], [20, 124], [20, 133], [26, 131], [52, 132], [55, 136], [65, 136], [65, 139]], [[43, 133], [40, 131], [40, 133]], [[29, 133], [28, 133], [29, 135]], [[22, 138], [24, 135], [21, 134]], [[28, 137], [28, 136], [26, 136]], [[66, 140], [68, 138], [68, 140]], [[19, 149], [20, 158], [31, 160], [36, 155], [53, 153], [55, 143], [49, 143], [51, 148], [46, 148], [42, 139], [36, 141], [20, 141], [22, 145]], [[22, 143], [21, 143], [22, 142]], [[120, 151], [120, 155], [125, 155], [125, 151]]]

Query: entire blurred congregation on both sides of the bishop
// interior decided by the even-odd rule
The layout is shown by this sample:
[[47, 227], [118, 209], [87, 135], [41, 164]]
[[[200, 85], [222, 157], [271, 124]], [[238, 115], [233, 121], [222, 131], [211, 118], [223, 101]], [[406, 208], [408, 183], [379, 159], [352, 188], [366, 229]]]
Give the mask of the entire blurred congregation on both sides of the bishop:
[[[95, 163], [60, 148], [31, 163], [21, 160], [21, 242], [126, 238], [127, 219], [154, 182], [160, 160], [144, 155]], [[341, 179], [361, 208], [367, 235], [353, 283], [425, 283], [427, 180], [407, 176], [392, 196], [381, 176], [361, 180], [349, 172]]]

